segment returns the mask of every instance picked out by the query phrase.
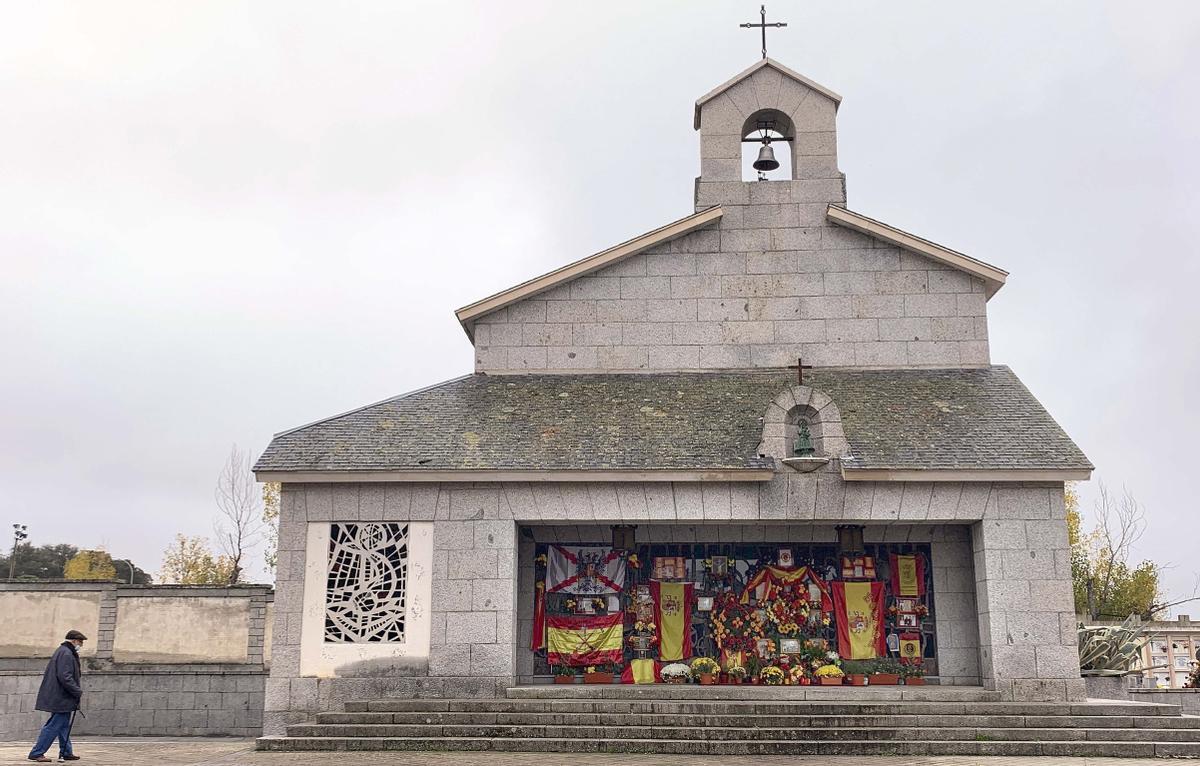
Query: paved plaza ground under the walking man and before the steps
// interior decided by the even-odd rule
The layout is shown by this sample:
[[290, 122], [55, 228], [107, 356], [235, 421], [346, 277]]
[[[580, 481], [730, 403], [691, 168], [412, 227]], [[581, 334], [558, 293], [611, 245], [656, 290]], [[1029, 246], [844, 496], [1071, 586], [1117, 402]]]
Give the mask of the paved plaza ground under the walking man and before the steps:
[[[29, 743], [0, 742], [0, 764], [28, 764]], [[388, 766], [1162, 766], [1154, 759], [1116, 758], [824, 758], [785, 755], [588, 755], [563, 753], [256, 753], [253, 740], [235, 738], [88, 738], [76, 741], [82, 766], [317, 766], [318, 764], [388, 764]], [[55, 749], [48, 754], [58, 755]]]

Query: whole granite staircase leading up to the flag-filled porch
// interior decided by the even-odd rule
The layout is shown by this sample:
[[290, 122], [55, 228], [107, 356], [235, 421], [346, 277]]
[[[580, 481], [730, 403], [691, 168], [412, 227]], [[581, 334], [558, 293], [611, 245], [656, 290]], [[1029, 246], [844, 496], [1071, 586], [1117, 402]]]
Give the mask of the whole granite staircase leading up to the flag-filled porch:
[[522, 687], [505, 699], [347, 702], [258, 749], [1168, 758], [1200, 756], [1200, 717], [947, 687]]

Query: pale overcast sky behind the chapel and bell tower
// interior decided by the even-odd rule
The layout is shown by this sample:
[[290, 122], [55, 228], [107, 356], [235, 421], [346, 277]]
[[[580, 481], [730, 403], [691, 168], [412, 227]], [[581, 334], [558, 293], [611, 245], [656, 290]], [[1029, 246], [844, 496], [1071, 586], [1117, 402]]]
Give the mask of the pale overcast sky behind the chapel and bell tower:
[[[454, 309], [692, 211], [757, 10], [5, 2], [0, 529], [157, 570], [234, 442], [469, 372]], [[768, 12], [844, 97], [850, 207], [1012, 273], [994, 363], [1189, 593], [1200, 2]]]

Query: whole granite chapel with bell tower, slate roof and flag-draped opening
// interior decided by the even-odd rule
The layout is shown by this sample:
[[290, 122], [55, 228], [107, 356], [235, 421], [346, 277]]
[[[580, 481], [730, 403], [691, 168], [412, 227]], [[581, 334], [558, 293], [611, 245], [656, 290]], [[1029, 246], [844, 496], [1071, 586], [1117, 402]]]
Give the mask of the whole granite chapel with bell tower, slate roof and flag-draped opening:
[[992, 364], [1007, 273], [848, 203], [840, 101], [764, 58], [696, 102], [695, 211], [460, 309], [472, 373], [274, 438], [266, 734], [697, 658], [1084, 696], [1092, 465]]

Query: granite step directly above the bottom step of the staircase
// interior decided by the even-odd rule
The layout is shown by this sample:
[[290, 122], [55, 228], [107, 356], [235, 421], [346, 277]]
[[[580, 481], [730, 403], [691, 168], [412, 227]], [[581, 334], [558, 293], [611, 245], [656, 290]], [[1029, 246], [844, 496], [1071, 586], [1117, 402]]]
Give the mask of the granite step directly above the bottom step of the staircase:
[[[744, 740], [745, 728], [724, 726], [606, 726], [606, 725], [487, 725], [487, 724], [296, 724], [287, 728], [289, 737], [334, 738], [553, 738], [582, 740]], [[998, 726], [846, 726], [846, 728], [773, 728], [752, 729], [756, 738], [822, 741], [1104, 741], [1104, 742], [1195, 742], [1200, 731], [1192, 729], [1033, 729]]]

